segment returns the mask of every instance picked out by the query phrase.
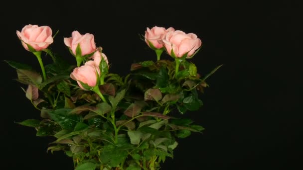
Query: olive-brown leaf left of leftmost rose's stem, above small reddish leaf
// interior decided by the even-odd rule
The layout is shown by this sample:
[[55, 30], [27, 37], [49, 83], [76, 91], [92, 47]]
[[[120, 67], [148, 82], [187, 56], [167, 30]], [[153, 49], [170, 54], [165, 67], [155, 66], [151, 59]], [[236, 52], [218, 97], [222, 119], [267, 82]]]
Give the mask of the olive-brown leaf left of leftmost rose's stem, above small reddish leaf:
[[17, 69], [17, 77], [17, 81], [26, 85], [40, 86], [42, 82], [41, 75], [34, 71]]

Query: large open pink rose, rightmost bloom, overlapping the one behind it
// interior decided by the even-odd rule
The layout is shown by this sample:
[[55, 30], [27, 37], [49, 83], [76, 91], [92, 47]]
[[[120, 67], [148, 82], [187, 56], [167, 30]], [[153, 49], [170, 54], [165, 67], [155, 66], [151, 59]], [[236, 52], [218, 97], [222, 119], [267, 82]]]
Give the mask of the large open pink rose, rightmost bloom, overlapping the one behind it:
[[171, 56], [171, 49], [175, 54], [175, 57], [180, 58], [188, 52], [187, 57], [189, 58], [194, 52], [202, 45], [201, 40], [193, 33], [184, 33], [183, 31], [167, 32], [162, 39], [164, 47], [167, 53]]

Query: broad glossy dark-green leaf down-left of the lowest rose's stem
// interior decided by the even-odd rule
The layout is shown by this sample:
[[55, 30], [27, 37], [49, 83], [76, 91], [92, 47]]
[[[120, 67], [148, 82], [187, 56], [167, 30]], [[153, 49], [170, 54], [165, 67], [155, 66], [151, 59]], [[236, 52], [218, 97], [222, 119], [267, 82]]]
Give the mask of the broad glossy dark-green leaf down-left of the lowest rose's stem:
[[78, 122], [80, 122], [80, 117], [75, 114], [69, 114], [71, 109], [61, 108], [54, 111], [48, 112], [50, 117], [56, 121], [63, 129], [73, 130]]

